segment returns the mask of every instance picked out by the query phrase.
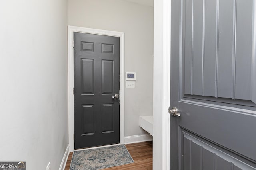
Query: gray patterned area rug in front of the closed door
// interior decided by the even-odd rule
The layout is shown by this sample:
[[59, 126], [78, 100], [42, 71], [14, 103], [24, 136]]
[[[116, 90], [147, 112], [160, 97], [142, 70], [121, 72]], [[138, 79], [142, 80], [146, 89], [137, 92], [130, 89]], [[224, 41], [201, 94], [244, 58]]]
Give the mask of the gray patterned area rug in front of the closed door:
[[70, 170], [99, 170], [133, 163], [125, 145], [74, 151]]

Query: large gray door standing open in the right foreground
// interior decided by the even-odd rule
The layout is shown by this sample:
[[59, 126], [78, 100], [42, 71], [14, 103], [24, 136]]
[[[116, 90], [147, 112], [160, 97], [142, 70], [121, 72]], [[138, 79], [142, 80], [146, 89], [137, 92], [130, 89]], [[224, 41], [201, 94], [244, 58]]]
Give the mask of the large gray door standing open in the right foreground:
[[171, 2], [171, 170], [256, 170], [255, 0]]

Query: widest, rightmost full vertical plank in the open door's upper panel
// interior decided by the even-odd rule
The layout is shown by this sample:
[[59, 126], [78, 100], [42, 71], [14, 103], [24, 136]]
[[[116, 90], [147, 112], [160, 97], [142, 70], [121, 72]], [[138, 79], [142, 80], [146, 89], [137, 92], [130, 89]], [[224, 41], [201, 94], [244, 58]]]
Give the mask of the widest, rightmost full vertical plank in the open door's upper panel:
[[[255, 100], [250, 98], [251, 94], [256, 96], [253, 91], [256, 90], [252, 84], [252, 76], [256, 72], [252, 70], [255, 67], [255, 33], [253, 33], [253, 0], [238, 0], [236, 9], [236, 63], [235, 63], [235, 99]], [[254, 14], [255, 15], [255, 14]], [[254, 30], [255, 31], [255, 30]], [[251, 57], [250, 57], [251, 56]], [[245, 74], [247, 73], [247, 74]], [[251, 89], [251, 90], [244, 90]]]

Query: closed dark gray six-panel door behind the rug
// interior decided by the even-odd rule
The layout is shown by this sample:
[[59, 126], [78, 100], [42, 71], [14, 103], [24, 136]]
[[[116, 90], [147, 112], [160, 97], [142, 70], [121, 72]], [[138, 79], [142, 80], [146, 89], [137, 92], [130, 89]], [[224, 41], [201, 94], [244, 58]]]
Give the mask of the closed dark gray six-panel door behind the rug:
[[119, 143], [119, 127], [119, 37], [74, 33], [74, 147]]

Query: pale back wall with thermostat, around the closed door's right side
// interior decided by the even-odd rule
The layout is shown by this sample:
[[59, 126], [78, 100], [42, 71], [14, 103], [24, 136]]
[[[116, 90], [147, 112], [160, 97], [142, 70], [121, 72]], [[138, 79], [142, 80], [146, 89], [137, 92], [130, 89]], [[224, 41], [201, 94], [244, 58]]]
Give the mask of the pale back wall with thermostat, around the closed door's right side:
[[125, 71], [136, 72], [135, 88], [125, 89], [125, 136], [146, 134], [138, 121], [140, 115], [153, 115], [153, 7], [68, 0], [68, 25], [125, 33]]

